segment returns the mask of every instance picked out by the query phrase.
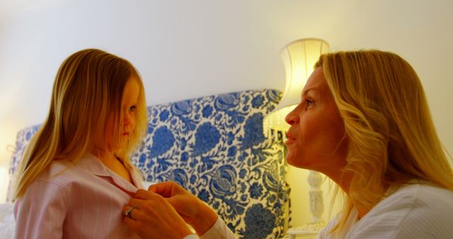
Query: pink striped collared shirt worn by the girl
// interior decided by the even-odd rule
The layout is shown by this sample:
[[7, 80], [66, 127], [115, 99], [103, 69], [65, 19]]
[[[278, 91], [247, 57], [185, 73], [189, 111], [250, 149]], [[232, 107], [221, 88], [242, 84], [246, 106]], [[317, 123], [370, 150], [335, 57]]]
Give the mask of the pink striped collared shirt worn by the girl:
[[[16, 238], [139, 238], [122, 221], [132, 185], [87, 153], [76, 165], [55, 161], [16, 200]], [[137, 185], [137, 186], [135, 186]]]

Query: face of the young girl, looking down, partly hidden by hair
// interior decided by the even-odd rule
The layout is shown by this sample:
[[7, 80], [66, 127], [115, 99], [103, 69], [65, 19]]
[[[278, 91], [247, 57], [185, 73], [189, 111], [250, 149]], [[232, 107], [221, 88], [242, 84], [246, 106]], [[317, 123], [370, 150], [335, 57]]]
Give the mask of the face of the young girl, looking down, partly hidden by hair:
[[[130, 136], [135, 129], [135, 117], [137, 117], [137, 103], [139, 100], [139, 84], [137, 79], [130, 78], [122, 92], [122, 124], [120, 125], [120, 139], [113, 139], [115, 129], [115, 117], [110, 114], [105, 125], [105, 141], [111, 151], [125, 148], [129, 142]], [[117, 145], [119, 142], [120, 145]]]

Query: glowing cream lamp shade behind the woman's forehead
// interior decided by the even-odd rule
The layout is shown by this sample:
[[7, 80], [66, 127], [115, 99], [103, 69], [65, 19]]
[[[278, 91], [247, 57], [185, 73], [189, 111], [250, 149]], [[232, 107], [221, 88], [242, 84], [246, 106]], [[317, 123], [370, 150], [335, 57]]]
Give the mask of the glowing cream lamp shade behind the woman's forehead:
[[277, 107], [263, 119], [265, 134], [270, 129], [282, 132], [289, 129], [285, 117], [299, 104], [302, 89], [314, 71], [314, 64], [321, 54], [328, 52], [328, 48], [324, 40], [305, 38], [291, 42], [282, 49], [280, 56], [285, 64], [285, 91]]

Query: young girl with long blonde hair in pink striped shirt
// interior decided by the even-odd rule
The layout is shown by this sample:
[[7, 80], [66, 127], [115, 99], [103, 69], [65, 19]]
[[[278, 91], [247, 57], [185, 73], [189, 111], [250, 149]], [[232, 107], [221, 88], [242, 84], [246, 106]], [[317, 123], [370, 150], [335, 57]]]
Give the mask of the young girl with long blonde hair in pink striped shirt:
[[129, 156], [147, 129], [142, 79], [99, 49], [69, 56], [16, 185], [16, 238], [138, 238], [122, 207], [142, 177]]

